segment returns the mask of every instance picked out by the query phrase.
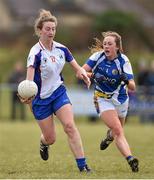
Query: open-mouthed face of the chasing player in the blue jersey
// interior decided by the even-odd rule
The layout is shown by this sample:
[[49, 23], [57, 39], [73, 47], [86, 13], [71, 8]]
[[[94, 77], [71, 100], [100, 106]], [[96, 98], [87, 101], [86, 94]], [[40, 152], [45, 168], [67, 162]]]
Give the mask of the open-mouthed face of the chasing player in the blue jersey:
[[113, 36], [107, 36], [103, 40], [103, 49], [105, 52], [105, 55], [109, 60], [113, 60], [117, 57], [117, 51], [118, 47], [115, 42], [115, 37]]

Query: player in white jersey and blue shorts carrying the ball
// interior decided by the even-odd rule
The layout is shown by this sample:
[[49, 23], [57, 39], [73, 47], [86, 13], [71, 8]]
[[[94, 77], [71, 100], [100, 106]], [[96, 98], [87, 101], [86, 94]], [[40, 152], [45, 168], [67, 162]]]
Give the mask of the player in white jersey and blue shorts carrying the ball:
[[89, 172], [90, 168], [86, 163], [81, 137], [74, 122], [71, 102], [61, 74], [65, 62], [72, 66], [77, 76], [83, 79], [87, 86], [90, 85], [90, 79], [67, 47], [54, 41], [56, 27], [56, 17], [50, 11], [42, 9], [35, 21], [35, 33], [39, 41], [31, 48], [27, 59], [27, 79], [37, 84], [38, 94], [33, 100], [20, 99], [23, 103], [32, 102], [32, 112], [42, 132], [41, 158], [48, 160], [49, 145], [56, 140], [53, 121], [55, 114], [68, 136], [69, 146], [79, 170]]

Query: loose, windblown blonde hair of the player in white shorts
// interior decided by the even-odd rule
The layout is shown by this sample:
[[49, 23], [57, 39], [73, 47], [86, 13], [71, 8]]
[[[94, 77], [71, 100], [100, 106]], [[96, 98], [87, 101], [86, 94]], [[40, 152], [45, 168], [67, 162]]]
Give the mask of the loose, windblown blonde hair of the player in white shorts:
[[[116, 46], [119, 48], [118, 52], [120, 52], [120, 53], [123, 52], [121, 36], [117, 32], [106, 31], [106, 32], [102, 32], [101, 34], [103, 36], [103, 39], [107, 36], [114, 37]], [[95, 40], [95, 44], [93, 44], [92, 47], [90, 48], [91, 52], [94, 53], [94, 52], [102, 51], [103, 50], [103, 40], [100, 40], [98, 38], [94, 38], [94, 40]]]

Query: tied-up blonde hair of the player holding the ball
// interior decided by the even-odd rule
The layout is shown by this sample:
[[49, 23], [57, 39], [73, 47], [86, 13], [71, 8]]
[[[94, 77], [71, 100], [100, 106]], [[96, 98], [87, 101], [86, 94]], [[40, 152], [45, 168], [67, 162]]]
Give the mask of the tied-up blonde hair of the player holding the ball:
[[40, 9], [39, 16], [35, 20], [35, 25], [34, 25], [35, 34], [37, 36], [40, 36], [39, 30], [42, 29], [44, 22], [48, 22], [48, 21], [54, 22], [57, 26], [57, 18], [53, 16], [50, 11], [47, 11], [45, 9]]

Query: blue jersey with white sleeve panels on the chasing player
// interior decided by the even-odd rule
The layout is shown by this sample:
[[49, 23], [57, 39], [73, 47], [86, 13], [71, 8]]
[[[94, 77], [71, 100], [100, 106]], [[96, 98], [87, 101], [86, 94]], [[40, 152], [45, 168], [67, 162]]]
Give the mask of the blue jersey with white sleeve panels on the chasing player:
[[128, 99], [126, 85], [121, 83], [120, 74], [126, 73], [128, 80], [133, 79], [132, 67], [126, 55], [118, 53], [118, 57], [108, 60], [103, 51], [89, 57], [88, 64], [97, 79], [95, 90], [111, 95], [115, 104], [123, 104]]

